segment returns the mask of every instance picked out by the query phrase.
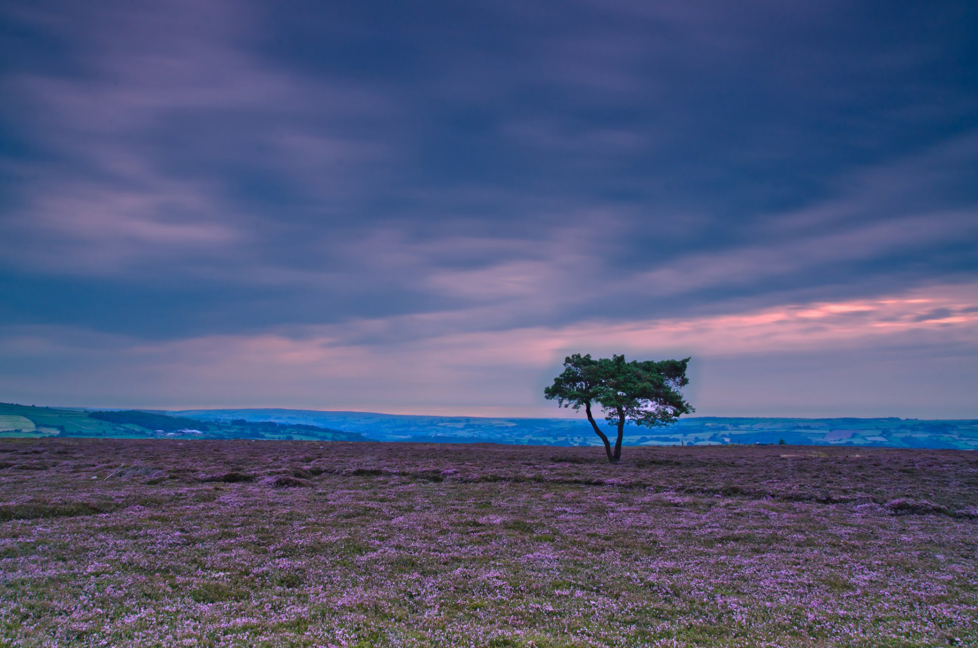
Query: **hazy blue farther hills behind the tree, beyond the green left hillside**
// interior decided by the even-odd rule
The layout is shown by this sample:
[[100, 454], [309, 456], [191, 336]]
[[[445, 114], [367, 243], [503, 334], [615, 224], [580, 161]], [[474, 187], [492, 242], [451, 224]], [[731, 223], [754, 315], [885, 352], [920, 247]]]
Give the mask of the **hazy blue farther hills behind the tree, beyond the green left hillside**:
[[[582, 417], [481, 418], [409, 416], [302, 409], [206, 409], [168, 412], [200, 421], [275, 421], [359, 432], [378, 440], [596, 445]], [[629, 426], [629, 445], [778, 443], [978, 449], [978, 420], [890, 418], [746, 418], [698, 416], [668, 428]]]

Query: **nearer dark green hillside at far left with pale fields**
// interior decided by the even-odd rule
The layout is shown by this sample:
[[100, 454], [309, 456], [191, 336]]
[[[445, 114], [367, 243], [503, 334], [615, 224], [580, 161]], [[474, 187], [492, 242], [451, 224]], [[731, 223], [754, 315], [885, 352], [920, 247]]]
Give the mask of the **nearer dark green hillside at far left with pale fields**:
[[0, 403], [0, 437], [367, 440], [357, 432], [314, 425], [244, 419], [204, 422], [158, 411], [88, 410], [14, 403]]

